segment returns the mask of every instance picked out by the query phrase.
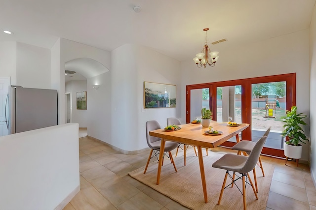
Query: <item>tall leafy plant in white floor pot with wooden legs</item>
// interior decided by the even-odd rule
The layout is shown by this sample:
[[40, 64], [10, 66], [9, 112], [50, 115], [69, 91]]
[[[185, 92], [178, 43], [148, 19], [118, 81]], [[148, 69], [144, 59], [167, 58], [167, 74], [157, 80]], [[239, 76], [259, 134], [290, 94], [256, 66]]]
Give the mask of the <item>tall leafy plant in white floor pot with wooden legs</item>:
[[[307, 125], [302, 119], [306, 118], [307, 115], [303, 113], [296, 113], [297, 107], [292, 106], [291, 111], [286, 110], [286, 117], [282, 117], [285, 124], [283, 125], [284, 130], [282, 132], [282, 137], [288, 137], [288, 141], [284, 144], [284, 155], [287, 158], [296, 159], [298, 164], [298, 159], [302, 157], [302, 145], [299, 143], [306, 144], [304, 141], [309, 141], [304, 134], [301, 125]], [[286, 161], [285, 161], [286, 164]]]

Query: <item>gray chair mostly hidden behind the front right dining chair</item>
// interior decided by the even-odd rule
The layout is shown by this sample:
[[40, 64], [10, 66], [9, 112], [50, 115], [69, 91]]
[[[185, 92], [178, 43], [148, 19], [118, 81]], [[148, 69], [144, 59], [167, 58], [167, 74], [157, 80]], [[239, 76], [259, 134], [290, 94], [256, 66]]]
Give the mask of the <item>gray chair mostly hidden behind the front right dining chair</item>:
[[[271, 126], [266, 130], [266, 132], [263, 134], [263, 136], [267, 136], [270, 133], [270, 129]], [[238, 150], [237, 154], [241, 154], [241, 152], [243, 152], [244, 155], [249, 154], [251, 152], [251, 150], [253, 149], [253, 147], [256, 145], [255, 142], [250, 141], [250, 140], [241, 140], [240, 142], [238, 142], [236, 145], [234, 145], [232, 147], [232, 150]], [[260, 155], [259, 155], [259, 167], [261, 168], [262, 171], [262, 175], [265, 176], [265, 172], [263, 171], [263, 167], [262, 167], [262, 162], [260, 159]], [[256, 169], [253, 169], [253, 177], [255, 180], [255, 186], [256, 186], [256, 192], [258, 192], [258, 184], [257, 184], [257, 177], [256, 177]]]

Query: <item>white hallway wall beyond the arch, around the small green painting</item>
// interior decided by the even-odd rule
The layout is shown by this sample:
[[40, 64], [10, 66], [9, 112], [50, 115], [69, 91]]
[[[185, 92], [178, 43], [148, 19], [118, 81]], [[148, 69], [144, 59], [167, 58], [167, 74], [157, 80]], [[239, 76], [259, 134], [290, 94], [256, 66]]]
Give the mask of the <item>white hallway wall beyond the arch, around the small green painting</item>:
[[73, 80], [66, 83], [65, 92], [71, 92], [71, 100], [72, 100], [72, 109], [71, 109], [71, 122], [79, 123], [79, 127], [87, 127], [88, 126], [88, 115], [87, 110], [90, 109], [90, 102], [92, 102], [92, 98], [90, 98], [89, 92], [87, 92], [87, 110], [78, 110], [77, 102], [76, 102], [76, 93], [81, 91], [87, 91], [87, 81], [86, 80]]

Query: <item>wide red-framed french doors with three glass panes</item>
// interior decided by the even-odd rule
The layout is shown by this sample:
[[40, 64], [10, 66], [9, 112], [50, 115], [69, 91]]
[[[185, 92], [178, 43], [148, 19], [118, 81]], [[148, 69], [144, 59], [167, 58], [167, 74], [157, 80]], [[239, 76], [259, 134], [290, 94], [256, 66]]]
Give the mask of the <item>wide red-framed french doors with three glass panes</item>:
[[[186, 121], [200, 117], [203, 107], [213, 112], [213, 120], [226, 123], [249, 123], [239, 134], [240, 139], [259, 140], [264, 131], [271, 131], [263, 154], [284, 157], [282, 116], [296, 101], [296, 74], [282, 74], [187, 86]], [[223, 146], [232, 147], [236, 138]]]

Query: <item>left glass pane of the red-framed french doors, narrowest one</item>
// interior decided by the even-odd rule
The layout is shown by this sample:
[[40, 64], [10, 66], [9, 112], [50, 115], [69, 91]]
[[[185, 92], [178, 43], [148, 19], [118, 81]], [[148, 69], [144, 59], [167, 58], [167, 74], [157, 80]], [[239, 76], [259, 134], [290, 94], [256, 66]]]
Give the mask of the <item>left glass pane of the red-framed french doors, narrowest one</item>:
[[209, 89], [194, 89], [190, 94], [190, 121], [192, 121], [202, 117], [202, 108], [209, 109]]

